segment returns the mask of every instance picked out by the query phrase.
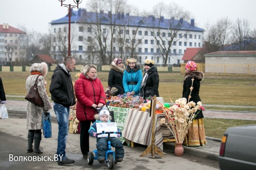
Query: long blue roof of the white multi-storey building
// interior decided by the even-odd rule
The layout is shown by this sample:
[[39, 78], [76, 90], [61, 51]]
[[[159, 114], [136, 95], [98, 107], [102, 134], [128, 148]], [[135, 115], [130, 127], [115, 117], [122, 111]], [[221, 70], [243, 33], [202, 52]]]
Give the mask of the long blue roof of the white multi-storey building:
[[[189, 22], [183, 21], [182, 23], [180, 20], [175, 19], [164, 19], [162, 18], [155, 18], [153, 16], [148, 17], [139, 17], [139, 16], [129, 16], [124, 15], [124, 13], [118, 13], [118, 15], [109, 14], [109, 13], [96, 13], [96, 12], [88, 12], [85, 9], [78, 9], [78, 11], [72, 10], [72, 15], [70, 22], [80, 22], [80, 23], [97, 23], [97, 16], [98, 18], [101, 17], [101, 24], [110, 24], [110, 16], [112, 17], [112, 21], [116, 20], [115, 24], [117, 25], [124, 25], [128, 24], [129, 26], [141, 26], [141, 27], [161, 27], [162, 29], [180, 29], [180, 30], [189, 30], [189, 31], [198, 31], [203, 32], [204, 30], [197, 27], [192, 26]], [[116, 18], [115, 18], [116, 17]], [[161, 21], [160, 21], [161, 20]], [[160, 21], [160, 22], [159, 22]], [[63, 18], [54, 20], [50, 22], [50, 24], [61, 24], [61, 23], [68, 23], [69, 17], [66, 15]]]

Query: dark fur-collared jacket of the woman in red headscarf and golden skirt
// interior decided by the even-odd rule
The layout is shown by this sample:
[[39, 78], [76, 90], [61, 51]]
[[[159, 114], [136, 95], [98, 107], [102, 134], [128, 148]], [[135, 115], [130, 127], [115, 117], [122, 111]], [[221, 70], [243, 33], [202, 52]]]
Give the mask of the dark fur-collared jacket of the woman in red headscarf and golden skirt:
[[[190, 94], [190, 87], [192, 85], [193, 78], [194, 78], [193, 90], [191, 91], [191, 94]], [[203, 72], [191, 71], [185, 74], [182, 97], [185, 97], [187, 99], [187, 102], [188, 102], [189, 94], [191, 96], [191, 98], [189, 98], [189, 102], [193, 101], [197, 104], [197, 102], [201, 101], [199, 96], [201, 80], [203, 80]], [[200, 118], [203, 118], [202, 110], [199, 111], [195, 119], [200, 119]]]

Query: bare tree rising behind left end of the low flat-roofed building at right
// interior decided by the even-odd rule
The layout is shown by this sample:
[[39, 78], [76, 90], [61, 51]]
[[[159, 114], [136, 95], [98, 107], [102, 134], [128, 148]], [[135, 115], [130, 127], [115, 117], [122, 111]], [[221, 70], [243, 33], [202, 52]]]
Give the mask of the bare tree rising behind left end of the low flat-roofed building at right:
[[206, 35], [206, 48], [209, 52], [224, 50], [225, 45], [229, 43], [232, 22], [229, 19], [222, 18], [217, 20], [216, 24], [208, 24]]

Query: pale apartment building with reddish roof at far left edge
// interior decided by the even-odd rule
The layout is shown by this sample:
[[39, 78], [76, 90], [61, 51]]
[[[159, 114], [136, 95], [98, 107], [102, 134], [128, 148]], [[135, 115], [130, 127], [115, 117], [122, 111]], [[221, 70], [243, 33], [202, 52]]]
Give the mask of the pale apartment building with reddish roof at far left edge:
[[25, 35], [9, 24], [0, 25], [0, 65], [25, 59]]

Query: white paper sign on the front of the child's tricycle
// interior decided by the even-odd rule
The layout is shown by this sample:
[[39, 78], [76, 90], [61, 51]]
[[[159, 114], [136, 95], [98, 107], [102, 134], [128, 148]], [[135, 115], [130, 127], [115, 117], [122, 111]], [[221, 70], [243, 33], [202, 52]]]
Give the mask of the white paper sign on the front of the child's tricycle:
[[[117, 132], [117, 123], [116, 122], [97, 122], [97, 133], [104, 132]], [[108, 134], [98, 135], [98, 137], [108, 137]], [[117, 134], [110, 134], [110, 137], [117, 137]]]

